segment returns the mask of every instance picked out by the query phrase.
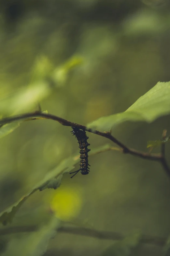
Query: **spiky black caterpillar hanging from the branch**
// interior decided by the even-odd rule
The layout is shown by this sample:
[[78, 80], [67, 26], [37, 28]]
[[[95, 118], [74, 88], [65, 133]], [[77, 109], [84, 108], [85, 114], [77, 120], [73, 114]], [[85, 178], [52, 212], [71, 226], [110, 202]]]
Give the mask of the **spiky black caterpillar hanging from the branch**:
[[87, 147], [90, 145], [87, 140], [89, 137], [87, 137], [86, 132], [83, 130], [80, 130], [77, 127], [72, 127], [73, 131], [71, 132], [73, 135], [76, 136], [79, 148], [80, 148], [80, 169], [78, 171], [72, 172], [70, 174], [75, 173], [71, 178], [73, 178], [79, 171], [81, 171], [81, 174], [86, 175], [89, 174], [90, 170], [89, 167], [90, 164], [88, 163], [88, 152], [90, 149]]

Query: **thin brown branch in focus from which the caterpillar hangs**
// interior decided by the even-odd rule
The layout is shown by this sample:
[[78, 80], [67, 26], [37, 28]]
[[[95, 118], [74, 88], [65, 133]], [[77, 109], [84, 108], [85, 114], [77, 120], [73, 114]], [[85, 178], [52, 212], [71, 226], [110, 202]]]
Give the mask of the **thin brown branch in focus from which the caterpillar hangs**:
[[4, 119], [0, 120], [0, 126], [10, 123], [10, 122], [14, 122], [14, 121], [20, 121], [20, 120], [28, 121], [28, 120], [36, 120], [36, 119], [51, 119], [54, 121], [58, 121], [59, 123], [61, 123], [64, 126], [78, 127], [79, 129], [82, 129], [82, 130], [91, 132], [93, 134], [97, 134], [99, 136], [105, 137], [105, 138], [113, 141], [115, 144], [117, 144], [122, 149], [122, 153], [124, 153], [124, 154], [130, 154], [130, 155], [138, 156], [138, 157], [141, 157], [144, 159], [161, 162], [163, 168], [165, 169], [166, 173], [170, 177], [170, 169], [165, 161], [165, 157], [163, 157], [162, 154], [153, 154], [153, 153], [151, 154], [151, 153], [146, 153], [146, 152], [142, 152], [142, 151], [137, 151], [132, 148], [128, 148], [123, 143], [121, 143], [119, 140], [117, 140], [115, 137], [113, 137], [109, 132], [100, 132], [97, 130], [92, 130], [92, 129], [87, 128], [84, 125], [70, 122], [66, 119], [63, 119], [63, 118], [60, 118], [60, 117], [57, 117], [57, 116], [54, 116], [51, 114], [35, 111], [34, 113], [27, 113], [27, 114], [23, 114], [23, 115], [19, 115], [19, 116], [4, 118]]

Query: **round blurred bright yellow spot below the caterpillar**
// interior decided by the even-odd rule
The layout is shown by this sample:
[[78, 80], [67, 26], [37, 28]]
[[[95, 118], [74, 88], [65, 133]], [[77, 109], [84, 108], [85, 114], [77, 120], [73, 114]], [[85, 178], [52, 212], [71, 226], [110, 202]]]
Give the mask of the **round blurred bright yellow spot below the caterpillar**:
[[51, 210], [57, 218], [68, 221], [77, 216], [82, 205], [81, 192], [78, 188], [60, 187], [50, 202]]

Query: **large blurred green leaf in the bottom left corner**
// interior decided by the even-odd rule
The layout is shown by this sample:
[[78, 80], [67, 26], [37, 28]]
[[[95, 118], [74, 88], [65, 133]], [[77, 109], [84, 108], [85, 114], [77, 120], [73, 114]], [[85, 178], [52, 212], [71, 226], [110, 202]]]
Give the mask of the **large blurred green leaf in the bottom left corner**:
[[[38, 231], [12, 239], [3, 256], [41, 256], [47, 250], [50, 239], [59, 228], [59, 220], [53, 216], [48, 225], [41, 227]], [[14, 254], [15, 252], [15, 254]]]

